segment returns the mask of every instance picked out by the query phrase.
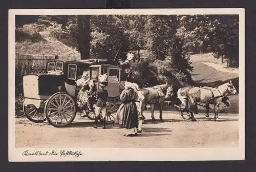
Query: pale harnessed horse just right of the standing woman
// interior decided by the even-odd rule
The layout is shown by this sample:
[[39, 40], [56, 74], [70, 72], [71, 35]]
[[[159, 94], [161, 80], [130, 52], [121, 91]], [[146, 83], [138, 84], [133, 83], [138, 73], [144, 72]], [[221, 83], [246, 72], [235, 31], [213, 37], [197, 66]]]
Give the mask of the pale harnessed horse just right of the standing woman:
[[172, 92], [172, 87], [167, 84], [156, 85], [155, 87], [140, 89], [136, 91], [136, 104], [138, 112], [143, 116], [143, 110], [146, 104], [151, 105], [151, 118], [156, 121], [154, 117], [155, 106], [159, 107], [159, 121], [164, 122], [162, 119], [163, 104]]

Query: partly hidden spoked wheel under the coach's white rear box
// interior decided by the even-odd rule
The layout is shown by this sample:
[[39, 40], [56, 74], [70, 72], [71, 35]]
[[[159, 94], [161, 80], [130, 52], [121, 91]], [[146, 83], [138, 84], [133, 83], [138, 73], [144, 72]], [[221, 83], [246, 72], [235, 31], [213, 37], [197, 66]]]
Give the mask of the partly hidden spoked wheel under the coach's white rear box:
[[37, 109], [34, 104], [23, 104], [23, 112], [25, 116], [32, 122], [40, 123], [46, 121], [44, 109]]

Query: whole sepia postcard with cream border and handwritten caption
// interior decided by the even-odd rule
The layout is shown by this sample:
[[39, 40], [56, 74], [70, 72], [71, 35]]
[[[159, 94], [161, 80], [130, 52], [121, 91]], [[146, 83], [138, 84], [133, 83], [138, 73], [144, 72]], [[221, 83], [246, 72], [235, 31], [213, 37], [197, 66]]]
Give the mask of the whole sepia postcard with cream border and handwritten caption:
[[244, 160], [244, 10], [9, 10], [9, 161]]

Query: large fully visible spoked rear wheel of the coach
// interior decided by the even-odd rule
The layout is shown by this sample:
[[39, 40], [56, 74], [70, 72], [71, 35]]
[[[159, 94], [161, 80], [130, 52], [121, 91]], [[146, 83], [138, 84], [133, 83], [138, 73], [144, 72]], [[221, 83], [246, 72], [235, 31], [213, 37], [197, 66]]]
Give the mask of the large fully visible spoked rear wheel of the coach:
[[55, 93], [45, 105], [45, 114], [48, 122], [53, 126], [67, 126], [76, 116], [75, 101], [67, 93]]

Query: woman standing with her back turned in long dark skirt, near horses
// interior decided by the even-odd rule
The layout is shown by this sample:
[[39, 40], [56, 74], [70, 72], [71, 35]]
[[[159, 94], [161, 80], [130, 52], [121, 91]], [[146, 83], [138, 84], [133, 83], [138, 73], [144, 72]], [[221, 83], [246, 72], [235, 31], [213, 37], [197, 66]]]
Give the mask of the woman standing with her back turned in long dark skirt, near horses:
[[127, 129], [124, 136], [137, 136], [138, 110], [135, 100], [138, 86], [136, 83], [125, 82], [124, 88], [120, 95], [121, 105], [117, 111], [119, 127]]

